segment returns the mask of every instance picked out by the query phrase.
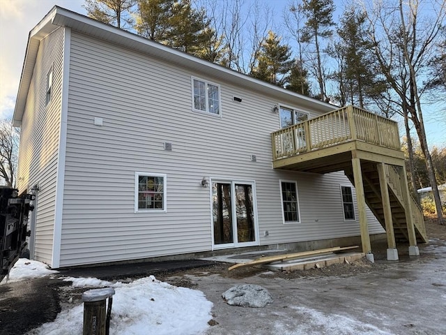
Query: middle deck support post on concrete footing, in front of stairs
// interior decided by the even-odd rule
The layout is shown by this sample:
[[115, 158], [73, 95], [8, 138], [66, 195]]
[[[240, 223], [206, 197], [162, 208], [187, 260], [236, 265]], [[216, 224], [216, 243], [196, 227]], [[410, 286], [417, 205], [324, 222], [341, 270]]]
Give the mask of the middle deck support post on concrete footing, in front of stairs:
[[398, 260], [397, 244], [392, 221], [392, 207], [390, 207], [389, 189], [387, 188], [387, 177], [385, 174], [385, 164], [378, 163], [379, 186], [381, 199], [383, 201], [385, 232], [387, 233], [387, 260]]

